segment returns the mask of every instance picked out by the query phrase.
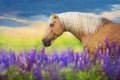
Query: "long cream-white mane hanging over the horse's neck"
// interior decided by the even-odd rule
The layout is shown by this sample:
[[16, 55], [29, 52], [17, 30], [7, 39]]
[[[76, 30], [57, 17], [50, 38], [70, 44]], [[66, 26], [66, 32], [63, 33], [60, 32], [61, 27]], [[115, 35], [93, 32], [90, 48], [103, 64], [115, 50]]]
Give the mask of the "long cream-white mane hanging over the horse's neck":
[[72, 30], [76, 33], [83, 32], [85, 34], [95, 33], [98, 27], [110, 20], [100, 17], [95, 14], [66, 12], [57, 14], [61, 23], [67, 30]]

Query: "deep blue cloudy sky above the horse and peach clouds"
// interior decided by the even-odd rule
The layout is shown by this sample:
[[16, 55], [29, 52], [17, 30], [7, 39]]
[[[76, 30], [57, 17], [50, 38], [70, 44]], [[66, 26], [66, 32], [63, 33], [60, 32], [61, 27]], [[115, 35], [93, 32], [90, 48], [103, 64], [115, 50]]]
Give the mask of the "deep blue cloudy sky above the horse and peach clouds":
[[[119, 7], [120, 0], [0, 0], [0, 16], [6, 17], [0, 18], [0, 26], [27, 25], [9, 18], [46, 21], [51, 12], [79, 11], [101, 14], [120, 10]], [[120, 22], [120, 19], [114, 21]]]

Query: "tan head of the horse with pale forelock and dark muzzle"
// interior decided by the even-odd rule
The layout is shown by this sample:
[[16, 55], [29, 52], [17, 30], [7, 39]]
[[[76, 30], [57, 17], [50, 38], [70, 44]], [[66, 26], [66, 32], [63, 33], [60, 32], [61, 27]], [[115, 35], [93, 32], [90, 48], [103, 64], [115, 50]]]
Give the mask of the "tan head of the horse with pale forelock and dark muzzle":
[[63, 28], [62, 23], [60, 22], [59, 16], [57, 14], [52, 13], [52, 15], [49, 18], [47, 30], [45, 31], [44, 37], [42, 39], [44, 46], [50, 46], [51, 41], [59, 37], [64, 31], [65, 29]]

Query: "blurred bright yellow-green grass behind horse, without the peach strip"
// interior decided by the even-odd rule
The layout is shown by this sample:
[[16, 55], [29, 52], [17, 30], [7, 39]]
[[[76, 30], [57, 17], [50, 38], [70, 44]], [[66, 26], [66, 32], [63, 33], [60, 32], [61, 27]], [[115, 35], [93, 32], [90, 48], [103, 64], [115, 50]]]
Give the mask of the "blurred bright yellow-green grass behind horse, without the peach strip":
[[[35, 48], [40, 50], [41, 47], [43, 47], [42, 36], [30, 38], [29, 36], [14, 37], [0, 34], [0, 48], [7, 50], [29, 50], [30, 48]], [[65, 33], [53, 41], [52, 45], [46, 48], [46, 51], [61, 51], [67, 49], [68, 47], [73, 48], [75, 51], [81, 51], [83, 49], [82, 44], [78, 39], [70, 34], [68, 35], [68, 33]]]

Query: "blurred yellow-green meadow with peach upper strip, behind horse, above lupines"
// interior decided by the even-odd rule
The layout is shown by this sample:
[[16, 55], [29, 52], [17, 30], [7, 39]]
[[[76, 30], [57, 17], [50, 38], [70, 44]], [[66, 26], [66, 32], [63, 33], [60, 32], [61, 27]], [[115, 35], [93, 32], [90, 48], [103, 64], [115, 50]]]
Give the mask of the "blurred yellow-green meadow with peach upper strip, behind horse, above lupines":
[[[40, 27], [22, 27], [22, 28], [6, 28], [0, 27], [0, 48], [6, 50], [30, 50], [35, 48], [40, 50], [43, 46], [42, 37], [45, 31], [44, 26]], [[52, 42], [52, 46], [47, 47], [47, 52], [54, 50], [62, 51], [72, 47], [75, 51], [83, 49], [81, 42], [70, 33], [64, 33], [58, 39]]]

